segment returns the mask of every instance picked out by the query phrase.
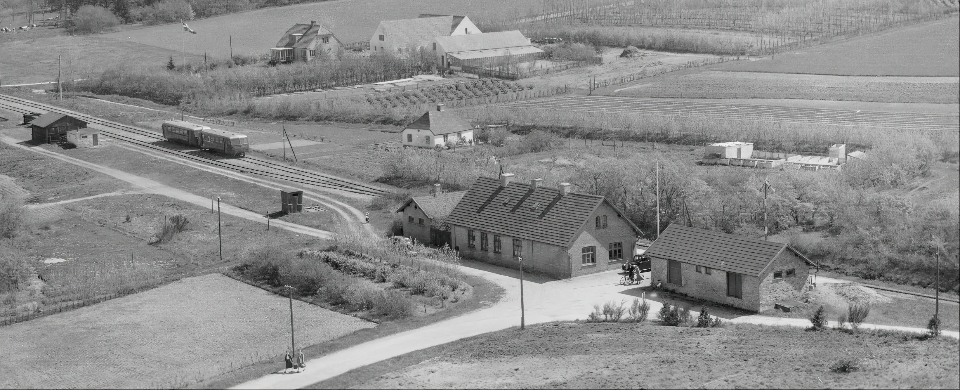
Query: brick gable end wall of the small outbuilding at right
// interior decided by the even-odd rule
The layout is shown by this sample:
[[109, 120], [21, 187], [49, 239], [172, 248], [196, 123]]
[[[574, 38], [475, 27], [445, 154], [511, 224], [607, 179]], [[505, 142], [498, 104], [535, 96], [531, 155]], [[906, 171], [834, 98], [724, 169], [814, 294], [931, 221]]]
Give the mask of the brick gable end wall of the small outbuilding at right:
[[[774, 258], [766, 272], [760, 276], [762, 280], [760, 281], [759, 311], [772, 309], [780, 301], [803, 301], [809, 293], [807, 267], [806, 261], [790, 250], [784, 250]], [[789, 269], [796, 270], [796, 274], [787, 276], [786, 271]], [[774, 279], [774, 273], [778, 271], [783, 272], [783, 278]]]

